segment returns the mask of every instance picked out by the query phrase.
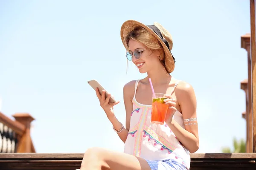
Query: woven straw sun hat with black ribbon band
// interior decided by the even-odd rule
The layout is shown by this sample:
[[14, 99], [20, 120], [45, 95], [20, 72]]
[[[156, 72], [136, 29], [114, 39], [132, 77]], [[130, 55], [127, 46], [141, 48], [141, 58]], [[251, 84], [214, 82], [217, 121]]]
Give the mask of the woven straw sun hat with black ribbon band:
[[160, 23], [154, 22], [154, 25], [145, 26], [143, 23], [140, 23], [135, 20], [127, 20], [122, 24], [121, 27], [121, 39], [125, 47], [127, 47], [127, 42], [125, 42], [126, 37], [130, 34], [134, 28], [141, 26], [147, 29], [151, 34], [153, 34], [162, 44], [164, 50], [164, 62], [165, 67], [168, 73], [171, 73], [175, 67], [175, 58], [172, 56], [172, 35], [167, 31]]

